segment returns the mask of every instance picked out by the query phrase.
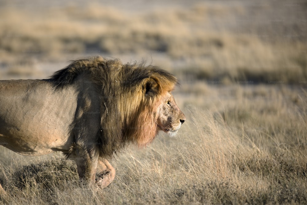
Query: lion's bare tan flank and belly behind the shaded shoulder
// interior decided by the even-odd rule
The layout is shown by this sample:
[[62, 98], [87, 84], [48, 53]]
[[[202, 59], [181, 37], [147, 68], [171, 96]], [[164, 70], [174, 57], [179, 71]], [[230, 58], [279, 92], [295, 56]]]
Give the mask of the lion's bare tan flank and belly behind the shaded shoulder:
[[27, 156], [68, 151], [74, 137], [70, 126], [76, 96], [68, 91], [55, 93], [45, 82], [35, 80], [20, 81], [17, 88], [10, 87], [10, 82], [6, 85], [0, 86], [0, 144]]

